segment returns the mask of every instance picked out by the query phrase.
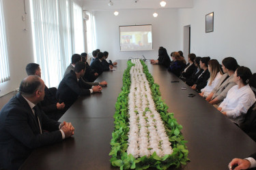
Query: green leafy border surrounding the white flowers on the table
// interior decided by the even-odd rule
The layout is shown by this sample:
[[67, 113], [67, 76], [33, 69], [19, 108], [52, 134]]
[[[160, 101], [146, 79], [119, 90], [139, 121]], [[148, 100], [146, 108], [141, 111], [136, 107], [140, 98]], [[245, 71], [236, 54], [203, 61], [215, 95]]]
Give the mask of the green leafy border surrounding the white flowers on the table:
[[[128, 122], [128, 95], [130, 92], [130, 69], [134, 65], [131, 61], [127, 62], [127, 69], [123, 75], [123, 87], [122, 91], [117, 97], [115, 103], [115, 118], [114, 131], [111, 139], [111, 165], [114, 167], [120, 167], [120, 169], [147, 169], [149, 167], [155, 167], [157, 169], [168, 169], [169, 167], [180, 167], [186, 165], [188, 159], [188, 150], [186, 149], [184, 137], [180, 132], [182, 126], [177, 123], [173, 113], [168, 113], [168, 106], [162, 101], [160, 97], [159, 85], [154, 83], [154, 78], [149, 73], [147, 65], [141, 61], [143, 65], [143, 72], [147, 77], [147, 81], [150, 82], [150, 88], [152, 91], [152, 97], [156, 104], [156, 110], [160, 114], [163, 122], [165, 122], [165, 129], [171, 141], [171, 147], [173, 153], [171, 155], [165, 155], [160, 158], [156, 152], [152, 156], [143, 156], [141, 158], [134, 158], [131, 154], [127, 154], [129, 122]], [[148, 109], [148, 108], [147, 108]], [[147, 110], [146, 110], [147, 111]]]

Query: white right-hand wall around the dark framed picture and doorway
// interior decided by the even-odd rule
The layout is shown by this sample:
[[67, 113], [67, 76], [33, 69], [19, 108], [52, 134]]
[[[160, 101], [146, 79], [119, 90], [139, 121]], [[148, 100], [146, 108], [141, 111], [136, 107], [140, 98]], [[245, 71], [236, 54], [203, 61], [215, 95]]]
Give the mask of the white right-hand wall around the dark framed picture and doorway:
[[[191, 52], [219, 62], [233, 56], [239, 65], [256, 72], [255, 0], [195, 0], [194, 7], [178, 12], [179, 37], [183, 27], [191, 27]], [[214, 32], [205, 33], [205, 14], [214, 12]], [[180, 47], [182, 47], [180, 42]]]

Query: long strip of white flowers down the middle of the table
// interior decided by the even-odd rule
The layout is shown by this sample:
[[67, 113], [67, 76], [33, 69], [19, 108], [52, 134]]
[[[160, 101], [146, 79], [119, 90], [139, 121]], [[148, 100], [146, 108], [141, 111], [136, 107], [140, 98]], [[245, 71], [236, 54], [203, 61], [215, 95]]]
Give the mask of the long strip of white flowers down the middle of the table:
[[139, 59], [132, 59], [132, 63], [135, 65], [130, 69], [130, 131], [127, 153], [132, 154], [134, 158], [151, 156], [154, 152], [159, 157], [172, 154], [171, 142], [160, 114], [156, 111], [143, 66]]

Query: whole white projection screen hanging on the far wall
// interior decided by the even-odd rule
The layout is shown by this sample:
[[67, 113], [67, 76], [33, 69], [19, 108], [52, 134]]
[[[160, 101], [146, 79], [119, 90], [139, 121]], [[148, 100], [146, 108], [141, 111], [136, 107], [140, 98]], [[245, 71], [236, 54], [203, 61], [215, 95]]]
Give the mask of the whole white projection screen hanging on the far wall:
[[120, 51], [153, 50], [152, 25], [119, 26]]

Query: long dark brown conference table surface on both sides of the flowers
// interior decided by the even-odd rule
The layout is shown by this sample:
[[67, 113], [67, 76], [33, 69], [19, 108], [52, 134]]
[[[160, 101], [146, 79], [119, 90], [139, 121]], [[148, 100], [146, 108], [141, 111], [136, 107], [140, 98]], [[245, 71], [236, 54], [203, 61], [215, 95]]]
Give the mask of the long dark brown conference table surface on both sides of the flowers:
[[[190, 162], [180, 169], [227, 169], [232, 158], [246, 158], [256, 152], [255, 141], [195, 90], [165, 67], [145, 63], [188, 141]], [[108, 86], [102, 92], [80, 97], [61, 117], [60, 122], [72, 122], [74, 136], [34, 150], [20, 169], [118, 169], [111, 166], [109, 152], [115, 102], [126, 68], [127, 61], [120, 60], [115, 71], [102, 73], [96, 82], [106, 80]], [[190, 93], [195, 97], [188, 97]]]

